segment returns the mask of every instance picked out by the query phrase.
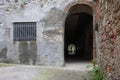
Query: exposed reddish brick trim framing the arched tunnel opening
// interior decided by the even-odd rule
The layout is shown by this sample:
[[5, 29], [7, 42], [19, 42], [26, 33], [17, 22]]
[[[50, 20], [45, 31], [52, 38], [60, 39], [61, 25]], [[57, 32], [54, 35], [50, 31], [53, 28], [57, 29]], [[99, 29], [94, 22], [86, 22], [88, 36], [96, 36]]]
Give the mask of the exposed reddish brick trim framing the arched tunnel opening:
[[[95, 27], [95, 24], [98, 22], [99, 18], [99, 10], [98, 10], [98, 1], [97, 2], [91, 2], [87, 0], [81, 0], [81, 1], [73, 1], [71, 2], [66, 8], [64, 9], [65, 13], [69, 13], [69, 10], [72, 6], [77, 5], [77, 4], [85, 4], [90, 6], [93, 9], [93, 27]], [[95, 28], [94, 28], [95, 29]], [[96, 58], [96, 36], [95, 36], [95, 31], [94, 31], [94, 37], [93, 37], [93, 58]]]

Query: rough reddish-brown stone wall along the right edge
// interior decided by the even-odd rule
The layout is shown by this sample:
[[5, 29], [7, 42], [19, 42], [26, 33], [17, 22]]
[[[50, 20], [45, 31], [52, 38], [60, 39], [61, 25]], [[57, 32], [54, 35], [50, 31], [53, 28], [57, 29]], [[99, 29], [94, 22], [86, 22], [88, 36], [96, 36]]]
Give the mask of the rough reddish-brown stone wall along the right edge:
[[100, 0], [98, 59], [107, 80], [120, 80], [120, 1]]

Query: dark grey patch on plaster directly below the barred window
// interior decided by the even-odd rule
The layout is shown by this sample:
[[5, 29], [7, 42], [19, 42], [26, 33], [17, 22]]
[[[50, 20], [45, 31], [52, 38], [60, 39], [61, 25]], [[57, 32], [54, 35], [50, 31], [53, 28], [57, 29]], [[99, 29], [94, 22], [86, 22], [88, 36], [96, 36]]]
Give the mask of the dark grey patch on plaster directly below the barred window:
[[35, 65], [37, 59], [37, 44], [35, 41], [30, 43], [22, 41], [19, 43], [19, 60], [21, 64]]

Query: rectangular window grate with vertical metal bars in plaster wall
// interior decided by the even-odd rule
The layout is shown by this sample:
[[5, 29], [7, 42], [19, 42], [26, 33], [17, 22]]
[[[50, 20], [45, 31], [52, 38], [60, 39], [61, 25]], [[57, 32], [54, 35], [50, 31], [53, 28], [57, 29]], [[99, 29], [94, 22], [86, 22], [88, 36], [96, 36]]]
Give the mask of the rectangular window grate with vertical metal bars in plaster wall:
[[16, 22], [13, 23], [14, 41], [35, 41], [36, 22]]

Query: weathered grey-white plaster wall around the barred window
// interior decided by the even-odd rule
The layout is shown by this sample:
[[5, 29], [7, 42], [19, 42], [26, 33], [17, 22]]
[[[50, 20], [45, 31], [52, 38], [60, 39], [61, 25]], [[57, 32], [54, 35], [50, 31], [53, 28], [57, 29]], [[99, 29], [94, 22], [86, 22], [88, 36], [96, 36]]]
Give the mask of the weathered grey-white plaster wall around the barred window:
[[[63, 66], [67, 6], [85, 1], [0, 0], [0, 54], [4, 55], [0, 61]], [[93, 2], [88, 2], [93, 6]], [[37, 40], [14, 42], [14, 22], [36, 22]]]

